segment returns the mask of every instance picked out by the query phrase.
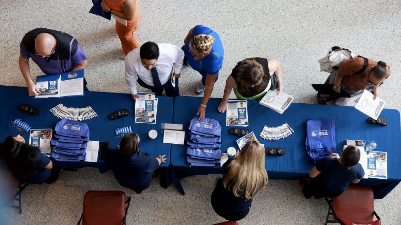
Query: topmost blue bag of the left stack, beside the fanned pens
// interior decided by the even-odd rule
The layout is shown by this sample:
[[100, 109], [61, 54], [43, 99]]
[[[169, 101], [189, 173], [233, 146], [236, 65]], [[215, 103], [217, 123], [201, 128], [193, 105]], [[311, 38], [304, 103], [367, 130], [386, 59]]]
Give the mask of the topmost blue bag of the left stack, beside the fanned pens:
[[60, 135], [71, 138], [89, 138], [89, 127], [86, 123], [62, 119], [54, 127], [54, 131]]

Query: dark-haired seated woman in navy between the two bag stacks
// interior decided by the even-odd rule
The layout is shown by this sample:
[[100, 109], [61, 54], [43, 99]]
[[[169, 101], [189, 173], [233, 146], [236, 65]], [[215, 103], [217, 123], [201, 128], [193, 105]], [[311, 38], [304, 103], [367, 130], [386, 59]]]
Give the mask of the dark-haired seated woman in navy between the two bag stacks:
[[107, 150], [106, 163], [121, 186], [130, 188], [137, 194], [142, 193], [151, 184], [153, 172], [162, 162], [166, 162], [166, 155], [155, 158], [140, 152], [139, 136], [135, 133], [126, 134], [117, 148], [119, 149]]

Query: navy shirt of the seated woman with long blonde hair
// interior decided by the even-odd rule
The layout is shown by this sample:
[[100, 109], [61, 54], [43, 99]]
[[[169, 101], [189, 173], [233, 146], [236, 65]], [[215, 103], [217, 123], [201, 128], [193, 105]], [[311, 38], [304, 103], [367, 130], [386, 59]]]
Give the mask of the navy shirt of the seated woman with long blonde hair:
[[[227, 173], [227, 167], [231, 161], [232, 159], [229, 159], [223, 164], [222, 167], [225, 173]], [[218, 179], [213, 194], [214, 196], [217, 196], [219, 198], [219, 202], [223, 203], [224, 207], [230, 211], [245, 211], [248, 210], [252, 204], [252, 199], [246, 200], [244, 197], [235, 197], [232, 192], [225, 189], [223, 185], [223, 179]], [[239, 193], [239, 195], [242, 196], [242, 192]]]

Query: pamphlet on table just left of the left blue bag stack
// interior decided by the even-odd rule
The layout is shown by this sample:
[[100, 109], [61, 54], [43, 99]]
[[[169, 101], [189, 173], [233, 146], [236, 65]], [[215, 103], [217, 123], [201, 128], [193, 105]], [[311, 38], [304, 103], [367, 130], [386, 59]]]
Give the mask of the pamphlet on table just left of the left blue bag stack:
[[42, 154], [50, 156], [50, 141], [52, 132], [52, 129], [30, 129], [29, 144], [39, 147]]

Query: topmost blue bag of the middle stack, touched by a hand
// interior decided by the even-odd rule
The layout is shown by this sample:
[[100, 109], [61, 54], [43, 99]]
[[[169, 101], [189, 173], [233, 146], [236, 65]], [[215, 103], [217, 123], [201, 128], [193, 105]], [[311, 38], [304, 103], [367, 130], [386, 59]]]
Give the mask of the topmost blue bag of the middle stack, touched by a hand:
[[205, 118], [203, 121], [200, 121], [198, 116], [192, 118], [188, 126], [188, 129], [194, 132], [209, 134], [214, 136], [220, 136], [222, 132], [222, 127], [220, 126], [217, 120]]

